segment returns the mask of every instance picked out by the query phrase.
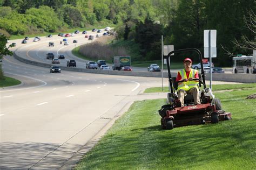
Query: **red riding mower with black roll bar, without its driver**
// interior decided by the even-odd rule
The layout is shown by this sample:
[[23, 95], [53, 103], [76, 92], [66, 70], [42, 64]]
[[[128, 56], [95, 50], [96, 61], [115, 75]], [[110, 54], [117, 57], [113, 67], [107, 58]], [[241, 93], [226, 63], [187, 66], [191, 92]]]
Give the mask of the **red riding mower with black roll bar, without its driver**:
[[[170, 70], [170, 56], [174, 53], [183, 52], [196, 52], [199, 55], [201, 73], [199, 73], [199, 79], [193, 80], [199, 81], [198, 88], [200, 93], [200, 105], [194, 104], [193, 96], [187, 94], [184, 98], [184, 107], [181, 107], [181, 103], [178, 100], [177, 93], [175, 93], [175, 90], [178, 89], [178, 83], [183, 81], [181, 80], [177, 82], [176, 77], [172, 77]], [[171, 130], [180, 126], [218, 123], [219, 121], [231, 119], [231, 113], [222, 110], [220, 100], [218, 98], [215, 98], [210, 88], [206, 88], [203, 57], [199, 49], [179, 49], [170, 52], [164, 58], [167, 61], [170, 93], [167, 94], [168, 104], [163, 105], [158, 111], [159, 115], [161, 116], [161, 127], [163, 129]], [[201, 90], [200, 87], [202, 85], [203, 89]]]

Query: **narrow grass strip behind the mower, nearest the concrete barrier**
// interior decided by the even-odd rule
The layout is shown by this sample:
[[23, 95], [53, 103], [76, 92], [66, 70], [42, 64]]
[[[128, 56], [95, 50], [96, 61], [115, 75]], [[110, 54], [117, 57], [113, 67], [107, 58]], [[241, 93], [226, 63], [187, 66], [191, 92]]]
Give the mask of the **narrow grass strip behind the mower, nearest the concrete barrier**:
[[[207, 86], [208, 87], [208, 86]], [[256, 89], [256, 83], [248, 83], [248, 84], [213, 84], [212, 91], [218, 90], [228, 90], [228, 89], [246, 89], [246, 88], [254, 88]], [[161, 92], [169, 92], [169, 87], [164, 87], [163, 91], [161, 87], [152, 87], [147, 88], [144, 93], [161, 93]]]

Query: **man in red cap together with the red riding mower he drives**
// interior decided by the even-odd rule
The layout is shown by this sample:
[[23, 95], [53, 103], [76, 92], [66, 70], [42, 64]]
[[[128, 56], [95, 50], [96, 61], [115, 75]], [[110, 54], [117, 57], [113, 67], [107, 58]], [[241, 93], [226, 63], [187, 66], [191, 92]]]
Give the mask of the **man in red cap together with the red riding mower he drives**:
[[[176, 81], [176, 77], [171, 76], [170, 56], [181, 52], [196, 52], [199, 55], [201, 74], [198, 74], [197, 70], [186, 70], [185, 66], [184, 72], [181, 70], [178, 73], [178, 81]], [[170, 130], [179, 126], [218, 123], [231, 119], [231, 113], [222, 110], [220, 100], [214, 98], [210, 88], [206, 88], [203, 57], [198, 49], [179, 49], [170, 52], [165, 58], [167, 60], [170, 93], [167, 94], [169, 104], [163, 105], [159, 110], [163, 129]], [[184, 65], [189, 60], [185, 59]], [[189, 62], [192, 63], [191, 60]], [[204, 88], [200, 90], [202, 85]], [[191, 90], [192, 88], [193, 90]], [[178, 90], [178, 96], [175, 90]]]

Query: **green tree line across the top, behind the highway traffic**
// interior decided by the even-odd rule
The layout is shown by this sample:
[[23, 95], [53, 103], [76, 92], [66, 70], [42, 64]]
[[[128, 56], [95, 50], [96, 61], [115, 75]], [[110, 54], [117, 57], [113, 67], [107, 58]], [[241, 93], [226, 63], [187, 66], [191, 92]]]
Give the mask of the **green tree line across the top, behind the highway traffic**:
[[[199, 48], [203, 53], [204, 30], [217, 30], [213, 61], [231, 66], [224, 48], [233, 54], [252, 54], [233, 41], [240, 43], [244, 36], [255, 41], [255, 26], [251, 31], [245, 23], [255, 8], [254, 0], [0, 0], [0, 29], [26, 34], [111, 25], [118, 39], [137, 42], [142, 61], [160, 59], [161, 35], [165, 45]], [[187, 55], [195, 59], [194, 54]]]

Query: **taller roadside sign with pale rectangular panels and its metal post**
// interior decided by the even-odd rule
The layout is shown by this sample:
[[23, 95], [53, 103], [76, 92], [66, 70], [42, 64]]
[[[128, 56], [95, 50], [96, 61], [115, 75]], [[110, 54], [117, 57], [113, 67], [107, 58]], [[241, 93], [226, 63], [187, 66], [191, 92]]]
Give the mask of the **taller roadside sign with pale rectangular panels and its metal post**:
[[204, 30], [204, 58], [210, 58], [210, 88], [212, 89], [212, 58], [217, 57], [216, 30]]

